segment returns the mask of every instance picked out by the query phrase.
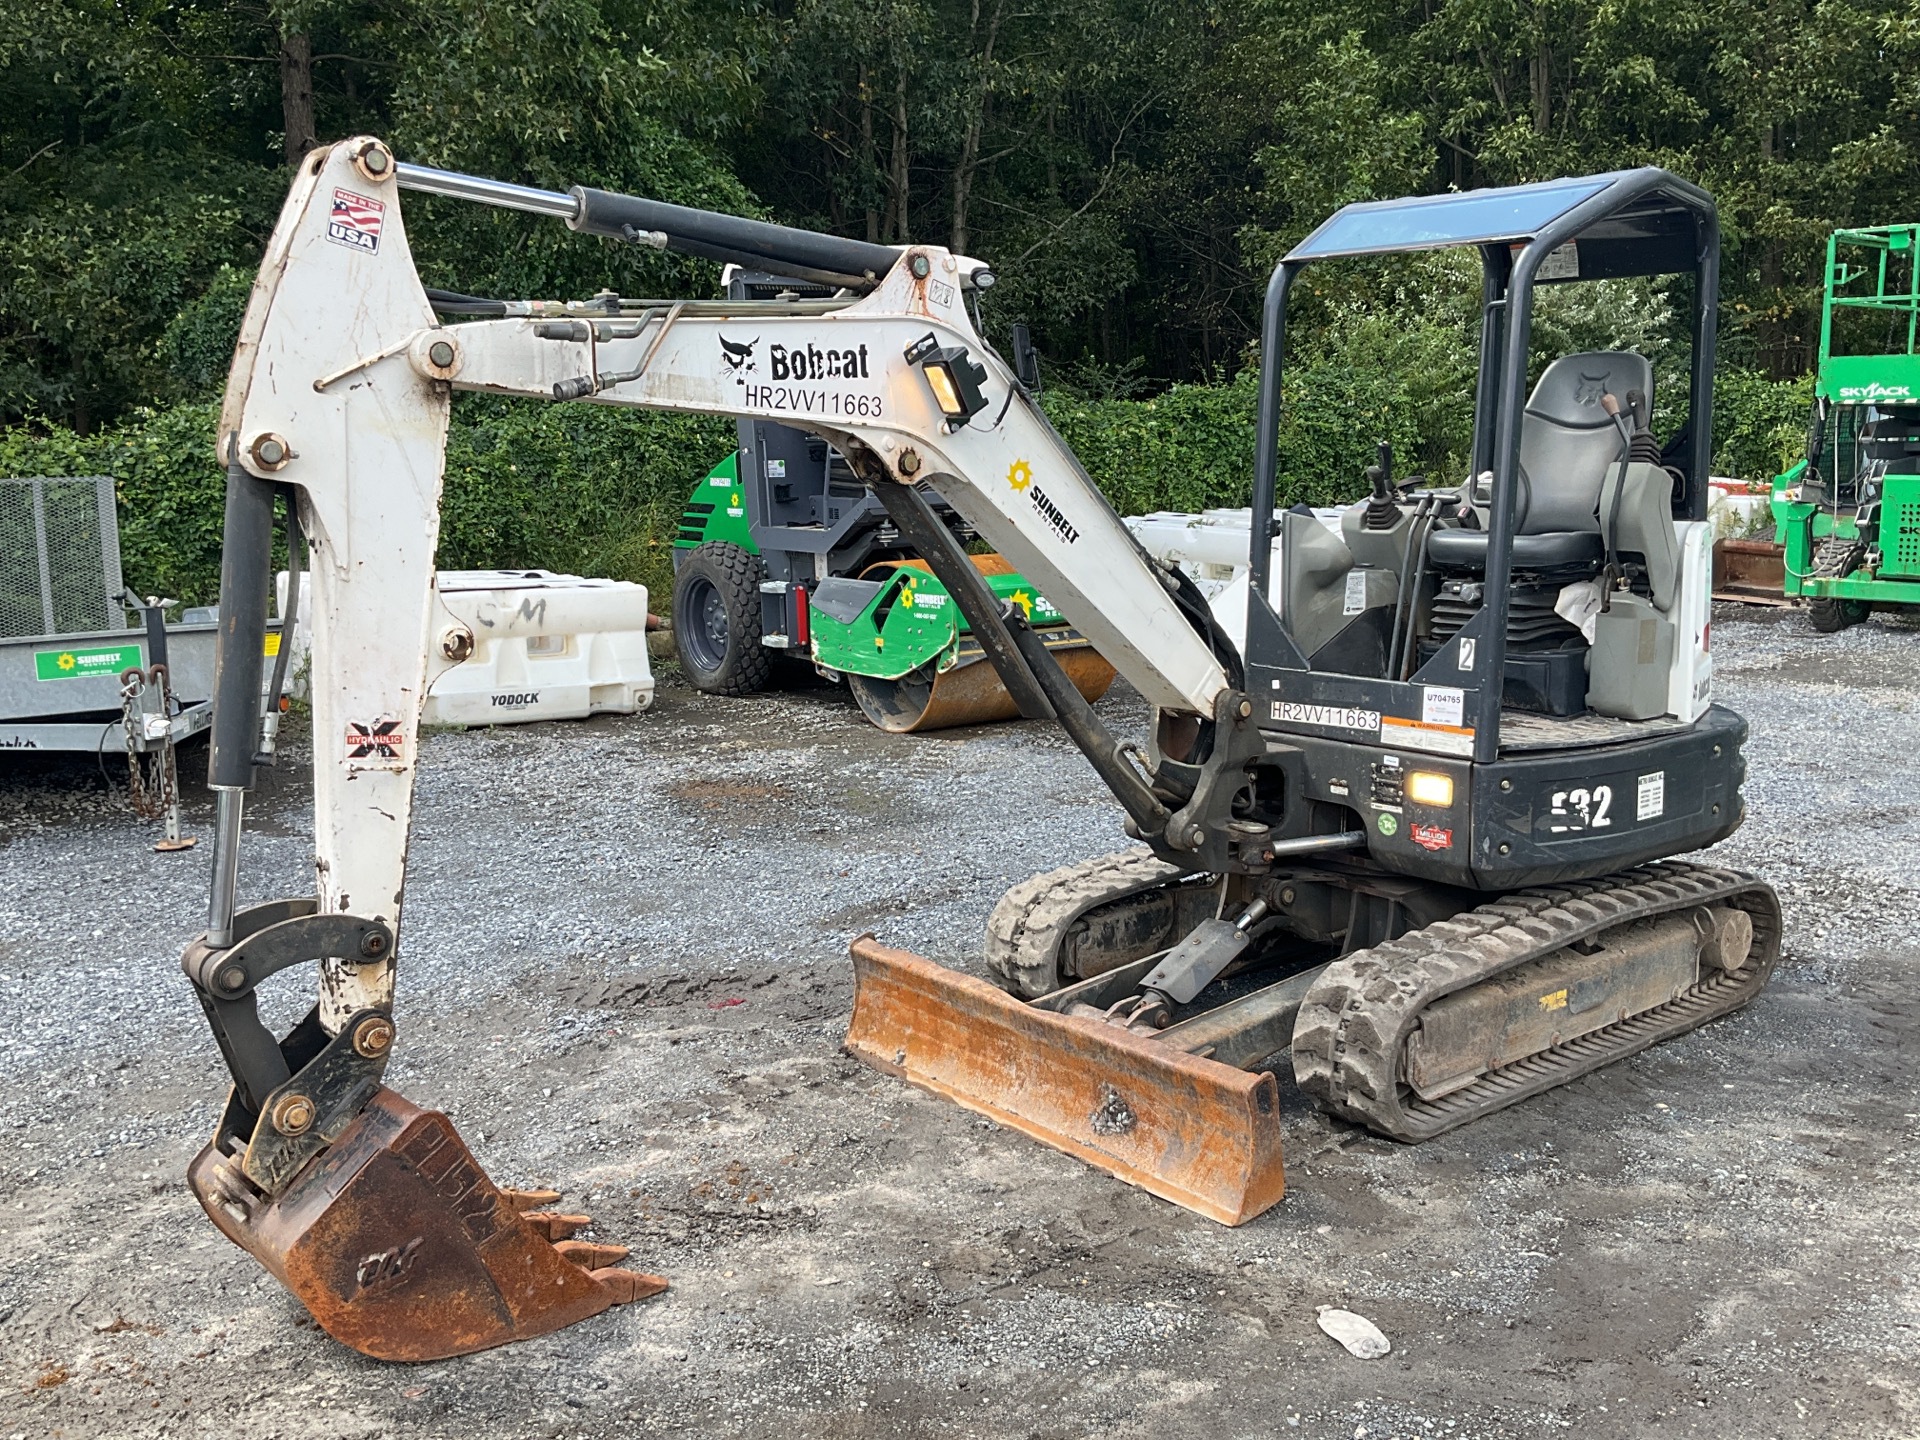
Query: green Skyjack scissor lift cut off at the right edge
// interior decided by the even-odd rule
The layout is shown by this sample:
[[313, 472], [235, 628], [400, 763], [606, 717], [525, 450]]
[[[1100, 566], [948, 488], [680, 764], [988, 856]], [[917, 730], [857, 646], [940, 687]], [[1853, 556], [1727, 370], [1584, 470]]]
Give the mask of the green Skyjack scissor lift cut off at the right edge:
[[1920, 225], [1826, 244], [1820, 372], [1807, 457], [1776, 476], [1786, 593], [1816, 630], [1920, 605]]

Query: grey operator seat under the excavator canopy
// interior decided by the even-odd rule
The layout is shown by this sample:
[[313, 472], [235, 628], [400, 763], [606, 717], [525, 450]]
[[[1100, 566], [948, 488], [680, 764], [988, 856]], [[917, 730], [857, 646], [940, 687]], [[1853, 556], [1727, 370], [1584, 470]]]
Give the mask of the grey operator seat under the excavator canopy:
[[[1515, 488], [1515, 570], [1597, 566], [1599, 490], [1620, 461], [1620, 432], [1601, 409], [1601, 396], [1626, 407], [1638, 390], [1653, 405], [1653, 365], [1630, 349], [1561, 355], [1548, 365], [1521, 415], [1521, 472]], [[1473, 501], [1486, 524], [1492, 482], [1475, 480]], [[1484, 570], [1480, 530], [1434, 530], [1427, 557], [1440, 570]]]

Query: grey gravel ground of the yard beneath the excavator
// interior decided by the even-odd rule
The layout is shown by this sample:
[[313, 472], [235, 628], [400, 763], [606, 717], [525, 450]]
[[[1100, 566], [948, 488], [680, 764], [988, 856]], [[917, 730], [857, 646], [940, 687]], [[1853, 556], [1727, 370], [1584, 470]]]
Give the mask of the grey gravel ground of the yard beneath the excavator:
[[[1912, 1436], [1920, 632], [1741, 611], [1715, 649], [1772, 987], [1417, 1150], [1283, 1087], [1292, 1188], [1236, 1231], [839, 1052], [851, 935], [977, 968], [1010, 881], [1123, 843], [1058, 735], [668, 674], [645, 716], [426, 737], [390, 1083], [674, 1288], [417, 1367], [315, 1331], [184, 1187], [225, 1089], [177, 968], [205, 845], [154, 854], [90, 758], [0, 756], [0, 1440]], [[248, 899], [307, 889], [301, 768]]]

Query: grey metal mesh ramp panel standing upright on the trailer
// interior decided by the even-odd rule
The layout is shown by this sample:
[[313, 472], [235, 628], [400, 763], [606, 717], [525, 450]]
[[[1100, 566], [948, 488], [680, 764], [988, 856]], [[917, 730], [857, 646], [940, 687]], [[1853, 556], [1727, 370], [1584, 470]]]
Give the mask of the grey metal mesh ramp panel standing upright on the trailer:
[[0, 480], [0, 639], [121, 630], [113, 480]]

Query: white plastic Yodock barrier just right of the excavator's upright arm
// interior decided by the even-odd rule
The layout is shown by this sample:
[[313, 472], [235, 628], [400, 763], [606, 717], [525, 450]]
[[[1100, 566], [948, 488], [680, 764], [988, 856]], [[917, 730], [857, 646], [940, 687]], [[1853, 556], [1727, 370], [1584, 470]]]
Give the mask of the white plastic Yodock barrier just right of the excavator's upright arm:
[[474, 653], [434, 682], [428, 726], [634, 714], [653, 705], [647, 588], [551, 570], [442, 570], [440, 605]]

